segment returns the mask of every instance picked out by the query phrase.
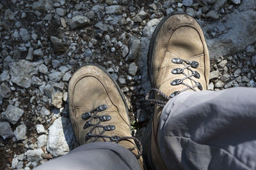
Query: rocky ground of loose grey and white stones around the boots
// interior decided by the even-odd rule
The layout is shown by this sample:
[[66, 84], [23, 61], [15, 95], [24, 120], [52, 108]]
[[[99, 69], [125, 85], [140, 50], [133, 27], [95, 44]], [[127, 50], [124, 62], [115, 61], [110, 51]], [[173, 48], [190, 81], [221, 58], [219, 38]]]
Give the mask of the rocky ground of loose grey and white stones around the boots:
[[152, 117], [147, 51], [161, 18], [184, 11], [202, 25], [211, 54], [209, 90], [256, 86], [254, 0], [0, 1], [0, 167], [33, 169], [77, 143], [67, 85], [100, 64], [118, 81], [140, 138]]

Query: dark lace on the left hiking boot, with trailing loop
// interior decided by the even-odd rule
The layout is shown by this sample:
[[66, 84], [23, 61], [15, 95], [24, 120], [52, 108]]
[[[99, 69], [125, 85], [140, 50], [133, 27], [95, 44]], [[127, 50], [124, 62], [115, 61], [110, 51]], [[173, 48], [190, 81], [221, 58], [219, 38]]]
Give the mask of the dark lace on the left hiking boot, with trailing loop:
[[[133, 139], [134, 141], [136, 141], [138, 143], [139, 148], [137, 146], [134, 146], [132, 148], [128, 148], [128, 150], [132, 152], [132, 150], [137, 149], [138, 150], [138, 155], [136, 155], [133, 152], [132, 153], [134, 154], [134, 156], [137, 159], [140, 159], [140, 156], [142, 154], [142, 145], [141, 145], [141, 142], [140, 142], [139, 139], [134, 138], [132, 136], [120, 137], [120, 136], [107, 136], [107, 135], [104, 135], [104, 132], [106, 132], [106, 131], [114, 131], [116, 129], [115, 125], [105, 125], [104, 126], [104, 125], [100, 124], [101, 122], [106, 122], [106, 121], [111, 120], [111, 116], [110, 115], [102, 115], [102, 116], [97, 115], [97, 113], [99, 113], [100, 111], [104, 111], [107, 108], [108, 108], [108, 106], [106, 104], [102, 104], [102, 105], [98, 106], [97, 108], [93, 109], [92, 111], [83, 113], [81, 115], [81, 118], [83, 120], [86, 120], [86, 123], [84, 124], [83, 129], [87, 129], [88, 127], [92, 127], [92, 129], [86, 134], [84, 140], [88, 141], [89, 139], [94, 138], [93, 142], [95, 142], [99, 138], [102, 138], [105, 142], [107, 142], [106, 139], [108, 139], [108, 141], [110, 141], [110, 142], [119, 143], [120, 141], [129, 141], [129, 139]], [[93, 119], [98, 120], [96, 124], [92, 124], [92, 120]], [[100, 131], [99, 134], [92, 134], [92, 132], [96, 128], [102, 129], [102, 131]]]

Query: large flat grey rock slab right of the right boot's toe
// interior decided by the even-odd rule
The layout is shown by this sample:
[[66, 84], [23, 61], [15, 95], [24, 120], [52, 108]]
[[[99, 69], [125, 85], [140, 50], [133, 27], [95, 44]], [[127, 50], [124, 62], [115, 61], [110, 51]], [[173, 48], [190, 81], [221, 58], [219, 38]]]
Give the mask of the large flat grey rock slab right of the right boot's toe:
[[[221, 20], [211, 22], [203, 28], [211, 57], [239, 52], [256, 41], [255, 9], [256, 1], [244, 0], [233, 13], [225, 15]], [[212, 27], [216, 27], [221, 32], [218, 37], [208, 36], [207, 31]]]

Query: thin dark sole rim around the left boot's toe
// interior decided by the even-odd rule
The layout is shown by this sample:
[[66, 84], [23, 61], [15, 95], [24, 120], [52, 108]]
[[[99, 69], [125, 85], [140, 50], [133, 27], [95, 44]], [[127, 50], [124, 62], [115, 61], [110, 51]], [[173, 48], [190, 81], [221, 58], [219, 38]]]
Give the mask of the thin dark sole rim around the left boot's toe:
[[[118, 83], [116, 82], [116, 80], [111, 76], [111, 74], [108, 73], [108, 71], [106, 71], [106, 69], [104, 69], [104, 67], [102, 66], [99, 66], [98, 64], [94, 64], [94, 63], [88, 63], [88, 64], [84, 64], [83, 66], [80, 66], [76, 69], [76, 71], [73, 73], [73, 75], [77, 72], [77, 70], [79, 70], [81, 67], [85, 67], [85, 66], [95, 66], [95, 67], [98, 67], [99, 69], [101, 69], [104, 73], [106, 73], [109, 78], [113, 81], [113, 83], [115, 84], [116, 86], [116, 89], [118, 90], [120, 96], [122, 97], [123, 101], [124, 101], [124, 104], [125, 104], [125, 110], [126, 110], [126, 114], [127, 114], [127, 117], [129, 118], [129, 114], [128, 114], [128, 107], [127, 107], [127, 103], [125, 101], [125, 97], [124, 97], [124, 94], [122, 92], [122, 90], [120, 89]], [[69, 90], [69, 83], [68, 83], [68, 90]], [[68, 107], [69, 107], [69, 104], [68, 104]], [[69, 115], [69, 108], [68, 108], [68, 115]], [[130, 131], [131, 131], [131, 122], [130, 122], [130, 118], [129, 118], [129, 128], [130, 128]]]

